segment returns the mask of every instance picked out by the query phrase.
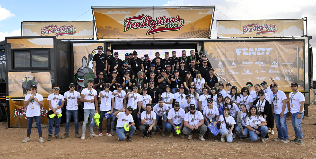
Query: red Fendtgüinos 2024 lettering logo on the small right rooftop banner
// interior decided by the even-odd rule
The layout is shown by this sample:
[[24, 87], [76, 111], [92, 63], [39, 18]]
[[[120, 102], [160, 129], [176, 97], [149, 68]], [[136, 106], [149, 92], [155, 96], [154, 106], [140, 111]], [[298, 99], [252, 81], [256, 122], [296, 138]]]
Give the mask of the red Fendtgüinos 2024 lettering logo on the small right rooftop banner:
[[274, 33], [277, 31], [277, 26], [275, 24], [270, 24], [270, 25], [262, 24], [262, 26], [260, 26], [258, 23], [252, 23], [252, 24], [248, 24], [244, 26], [243, 34], [246, 32], [253, 32], [253, 31], [258, 31], [256, 35], [264, 34], [264, 33]]

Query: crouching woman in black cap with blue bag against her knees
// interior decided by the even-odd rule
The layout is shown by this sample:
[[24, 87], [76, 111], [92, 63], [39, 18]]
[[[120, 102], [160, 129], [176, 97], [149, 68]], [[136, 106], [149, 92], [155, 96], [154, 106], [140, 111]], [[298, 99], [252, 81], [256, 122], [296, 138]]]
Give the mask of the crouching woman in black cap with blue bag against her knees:
[[[203, 116], [204, 116], [204, 122], [206, 125], [209, 125], [210, 124], [210, 121], [213, 122], [213, 126], [217, 127], [217, 121], [218, 121], [218, 118], [219, 118], [219, 112], [218, 112], [218, 109], [216, 106], [213, 105], [213, 99], [212, 98], [208, 98], [207, 99], [207, 104], [208, 106], [207, 107], [204, 107], [204, 110], [203, 110]], [[205, 139], [208, 139], [209, 137], [207, 136], [209, 134], [209, 129], [206, 130], [205, 132], [205, 136], [204, 138]], [[216, 136], [213, 137], [215, 141], [217, 141], [217, 138]]]

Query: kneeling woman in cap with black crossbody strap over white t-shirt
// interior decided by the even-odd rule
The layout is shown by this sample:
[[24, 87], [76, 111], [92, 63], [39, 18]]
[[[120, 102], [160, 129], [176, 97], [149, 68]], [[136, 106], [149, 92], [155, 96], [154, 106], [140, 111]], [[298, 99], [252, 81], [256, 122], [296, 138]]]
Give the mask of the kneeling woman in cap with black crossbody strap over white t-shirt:
[[[227, 139], [228, 143], [232, 143], [233, 142], [233, 129], [234, 129], [234, 124], [236, 124], [234, 118], [232, 116], [230, 116], [229, 113], [229, 108], [228, 107], [224, 107], [223, 109], [224, 115], [219, 116], [218, 121], [221, 122], [221, 126], [220, 126], [220, 134], [221, 134], [221, 140], [222, 142], [225, 142], [225, 137]], [[226, 122], [225, 122], [226, 121]], [[227, 127], [230, 127], [230, 129], [228, 130]]]

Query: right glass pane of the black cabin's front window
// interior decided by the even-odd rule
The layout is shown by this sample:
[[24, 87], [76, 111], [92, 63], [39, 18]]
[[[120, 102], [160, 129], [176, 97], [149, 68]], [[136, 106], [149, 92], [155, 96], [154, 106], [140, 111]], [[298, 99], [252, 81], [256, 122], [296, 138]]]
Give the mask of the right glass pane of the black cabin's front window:
[[32, 67], [48, 67], [48, 51], [32, 51]]

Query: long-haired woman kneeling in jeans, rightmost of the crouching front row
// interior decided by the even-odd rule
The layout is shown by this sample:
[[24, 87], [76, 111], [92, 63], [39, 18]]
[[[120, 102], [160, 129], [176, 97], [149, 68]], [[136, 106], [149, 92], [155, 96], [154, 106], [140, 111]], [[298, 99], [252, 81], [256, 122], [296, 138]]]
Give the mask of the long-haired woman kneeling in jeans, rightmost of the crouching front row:
[[267, 122], [265, 122], [263, 116], [258, 112], [256, 106], [251, 106], [246, 116], [247, 128], [249, 129], [249, 135], [251, 141], [257, 141], [258, 135], [260, 135], [260, 141], [265, 143], [264, 137], [268, 133]]

